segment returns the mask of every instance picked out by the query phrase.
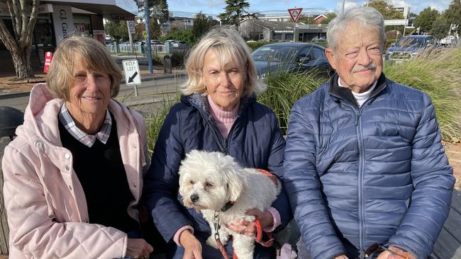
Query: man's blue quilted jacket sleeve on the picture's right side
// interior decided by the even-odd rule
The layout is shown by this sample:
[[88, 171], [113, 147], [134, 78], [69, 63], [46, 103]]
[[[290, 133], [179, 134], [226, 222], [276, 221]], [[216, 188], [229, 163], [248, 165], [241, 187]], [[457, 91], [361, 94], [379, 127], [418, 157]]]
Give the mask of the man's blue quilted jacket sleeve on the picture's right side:
[[455, 183], [440, 143], [434, 106], [426, 95], [423, 103], [424, 110], [412, 143], [411, 178], [414, 190], [411, 205], [396, 234], [389, 239], [391, 246], [403, 248], [416, 258], [428, 258], [431, 254], [448, 217]]

